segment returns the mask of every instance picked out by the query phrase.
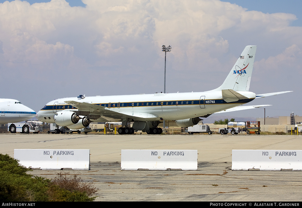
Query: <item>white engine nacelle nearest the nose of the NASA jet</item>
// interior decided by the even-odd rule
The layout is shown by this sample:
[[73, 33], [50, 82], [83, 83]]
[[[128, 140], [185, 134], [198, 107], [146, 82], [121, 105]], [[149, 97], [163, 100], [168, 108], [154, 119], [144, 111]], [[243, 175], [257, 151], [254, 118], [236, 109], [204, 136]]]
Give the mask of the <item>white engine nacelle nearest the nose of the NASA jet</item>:
[[70, 126], [81, 119], [79, 116], [76, 115], [73, 111], [59, 111], [54, 115], [55, 123], [59, 126]]

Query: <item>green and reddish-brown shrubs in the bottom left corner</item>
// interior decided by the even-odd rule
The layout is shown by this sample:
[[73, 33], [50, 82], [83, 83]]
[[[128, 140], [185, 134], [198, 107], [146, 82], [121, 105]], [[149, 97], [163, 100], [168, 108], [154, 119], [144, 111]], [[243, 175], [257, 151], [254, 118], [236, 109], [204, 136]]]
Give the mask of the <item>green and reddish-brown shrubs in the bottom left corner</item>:
[[0, 201], [93, 201], [98, 191], [92, 183], [67, 173], [54, 180], [27, 174], [30, 169], [9, 155], [0, 154]]

